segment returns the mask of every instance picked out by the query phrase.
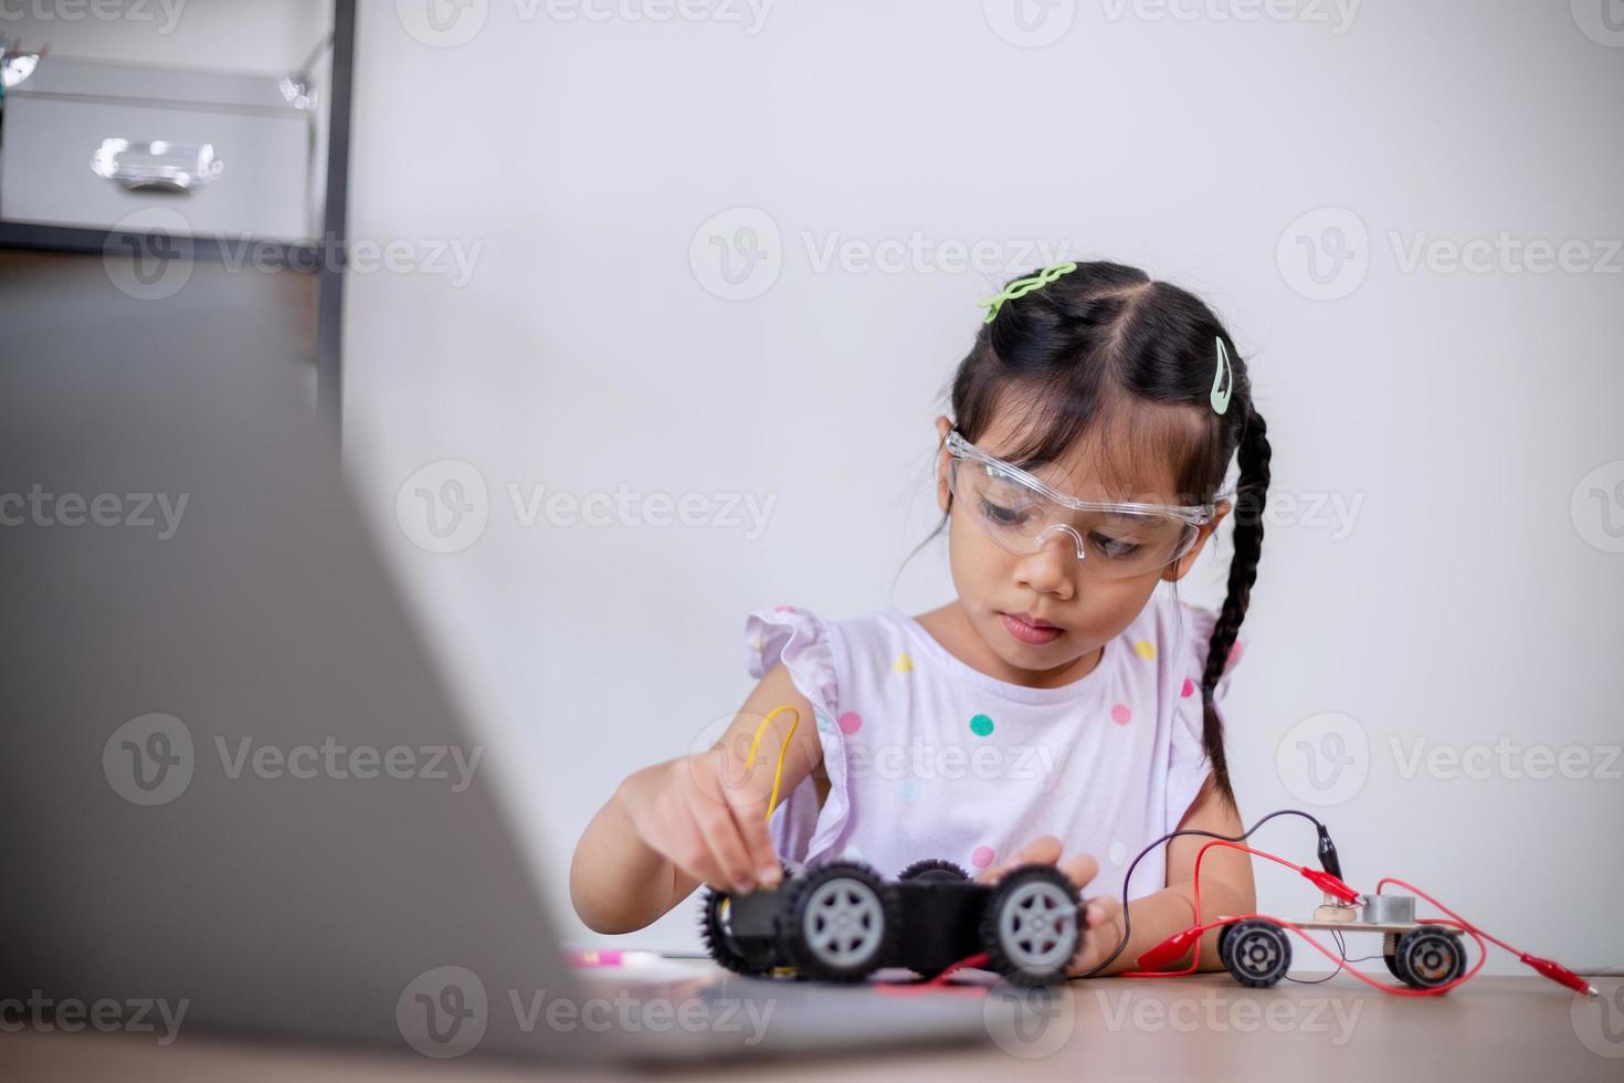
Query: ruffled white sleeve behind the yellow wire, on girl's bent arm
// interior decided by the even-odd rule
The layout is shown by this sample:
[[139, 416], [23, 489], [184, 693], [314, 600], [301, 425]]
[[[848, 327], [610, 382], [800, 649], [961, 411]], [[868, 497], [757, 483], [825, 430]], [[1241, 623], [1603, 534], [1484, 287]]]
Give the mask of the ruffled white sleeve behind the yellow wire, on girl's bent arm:
[[836, 671], [836, 630], [822, 617], [796, 606], [778, 606], [749, 614], [744, 620], [747, 669], [752, 677], [765, 677], [783, 662], [789, 680], [812, 705], [814, 718], [797, 724], [817, 727], [823, 745], [823, 770], [828, 773], [828, 797], [818, 809], [812, 776], [788, 796], [780, 796], [778, 809], [768, 820], [773, 846], [780, 857], [807, 864], [827, 851], [846, 823], [846, 749], [841, 742], [840, 682]]

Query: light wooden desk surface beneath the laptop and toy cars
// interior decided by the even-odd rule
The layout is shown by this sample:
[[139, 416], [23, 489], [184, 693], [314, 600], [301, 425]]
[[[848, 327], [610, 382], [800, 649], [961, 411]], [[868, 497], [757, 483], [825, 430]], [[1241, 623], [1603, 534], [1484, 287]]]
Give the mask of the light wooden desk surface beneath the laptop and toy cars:
[[[710, 963], [693, 963], [703, 974]], [[1338, 976], [1325, 984], [1244, 989], [1226, 974], [1073, 982], [1070, 1012], [1028, 1049], [984, 1047], [866, 1057], [887, 1083], [1023, 1080], [1403, 1080], [1624, 1078], [1624, 977], [1595, 981], [1585, 1000], [1541, 977], [1475, 977], [1445, 997], [1395, 997]], [[1070, 1026], [1065, 1026], [1065, 1016]], [[1065, 1031], [1062, 1034], [1062, 1029]], [[1059, 1041], [1057, 1041], [1059, 1039]], [[151, 1038], [21, 1031], [0, 1038], [8, 1078], [101, 1080], [547, 1080], [580, 1070], [412, 1054], [234, 1041], [182, 1033]], [[755, 1078], [827, 1080], [851, 1062], [736, 1062]], [[661, 1072], [715, 1077], [716, 1067]], [[594, 1078], [645, 1078], [606, 1070]]]

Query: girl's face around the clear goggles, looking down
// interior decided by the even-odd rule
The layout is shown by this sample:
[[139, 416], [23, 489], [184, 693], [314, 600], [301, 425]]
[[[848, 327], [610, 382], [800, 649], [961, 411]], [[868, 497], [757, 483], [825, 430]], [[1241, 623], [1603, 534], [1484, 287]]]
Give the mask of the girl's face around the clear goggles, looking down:
[[[1002, 411], [1000, 411], [1002, 412]], [[937, 417], [935, 427], [942, 440], [952, 429], [947, 417]], [[976, 447], [1005, 458], [1020, 434], [1000, 416], [992, 429], [981, 434]], [[948, 511], [947, 461], [942, 448], [937, 460], [937, 503]], [[1108, 500], [1108, 490], [1093, 471], [1086, 455], [1069, 455], [1065, 461], [1052, 463], [1038, 474], [1064, 494], [1085, 500]], [[1153, 474], [1153, 476], [1143, 476]], [[1164, 464], [1147, 463], [1137, 477], [1134, 498], [1147, 503], [1179, 503], [1174, 498], [1176, 479]], [[957, 623], [973, 635], [963, 635], [960, 648], [974, 653], [965, 661], [994, 677], [1036, 688], [1049, 688], [1088, 675], [1099, 662], [1101, 648], [1121, 635], [1138, 617], [1150, 601], [1156, 583], [1184, 578], [1207, 546], [1207, 539], [1228, 515], [1228, 502], [1218, 505], [1212, 523], [1199, 528], [1199, 537], [1190, 550], [1161, 572], [1148, 572], [1130, 578], [1085, 576], [1077, 550], [1060, 534], [1036, 554], [1013, 554], [994, 542], [961, 515], [953, 502], [948, 528], [953, 586], [958, 589]], [[1046, 643], [1020, 638], [1005, 617], [1021, 617], [1054, 625], [1059, 635]]]

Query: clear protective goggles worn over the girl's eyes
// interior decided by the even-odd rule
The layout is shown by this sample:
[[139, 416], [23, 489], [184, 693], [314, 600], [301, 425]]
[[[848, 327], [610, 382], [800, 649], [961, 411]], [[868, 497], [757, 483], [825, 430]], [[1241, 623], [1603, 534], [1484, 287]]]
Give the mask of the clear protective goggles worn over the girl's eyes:
[[1215, 505], [1179, 507], [1078, 500], [1038, 477], [947, 434], [947, 484], [965, 515], [1013, 554], [1036, 554], [1054, 537], [1075, 544], [1083, 572], [1129, 578], [1160, 572], [1182, 557], [1210, 523]]

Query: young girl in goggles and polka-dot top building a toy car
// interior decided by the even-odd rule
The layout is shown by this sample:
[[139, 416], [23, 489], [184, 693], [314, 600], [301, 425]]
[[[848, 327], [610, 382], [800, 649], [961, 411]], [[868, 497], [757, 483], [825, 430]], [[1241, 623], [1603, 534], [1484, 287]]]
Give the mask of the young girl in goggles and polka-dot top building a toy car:
[[[986, 882], [1057, 864], [1088, 898], [1070, 974], [1130, 969], [1197, 919], [1207, 839], [1124, 877], [1174, 828], [1242, 830], [1218, 700], [1246, 646], [1268, 489], [1246, 365], [1197, 297], [1116, 263], [1047, 268], [983, 304], [935, 419], [958, 598], [918, 617], [750, 614], [760, 684], [723, 740], [633, 773], [583, 833], [570, 890], [588, 927], [641, 929], [700, 883], [775, 887], [780, 857], [885, 877], [947, 859]], [[1156, 594], [1231, 510], [1223, 609]], [[1124, 891], [1132, 937], [1111, 958]], [[1252, 909], [1247, 857], [1210, 851], [1200, 917]]]

